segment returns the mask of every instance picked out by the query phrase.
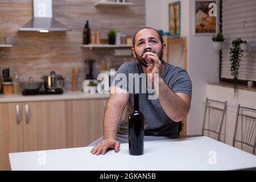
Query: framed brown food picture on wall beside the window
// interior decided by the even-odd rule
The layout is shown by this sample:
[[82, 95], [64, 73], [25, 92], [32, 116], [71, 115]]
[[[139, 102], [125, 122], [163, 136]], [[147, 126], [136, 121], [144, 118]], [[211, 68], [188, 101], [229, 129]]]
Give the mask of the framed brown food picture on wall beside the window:
[[216, 1], [195, 1], [195, 35], [214, 35], [218, 29], [218, 4]]

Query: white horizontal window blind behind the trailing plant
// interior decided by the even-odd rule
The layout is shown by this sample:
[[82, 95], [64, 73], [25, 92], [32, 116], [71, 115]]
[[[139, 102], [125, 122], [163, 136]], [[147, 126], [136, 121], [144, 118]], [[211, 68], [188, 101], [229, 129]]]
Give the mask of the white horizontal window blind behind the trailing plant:
[[[246, 29], [243, 27], [244, 20]], [[222, 33], [225, 44], [222, 50], [221, 78], [233, 79], [229, 52], [232, 41], [241, 38], [250, 43], [250, 51], [243, 52], [238, 80], [256, 81], [256, 0], [223, 0]]]

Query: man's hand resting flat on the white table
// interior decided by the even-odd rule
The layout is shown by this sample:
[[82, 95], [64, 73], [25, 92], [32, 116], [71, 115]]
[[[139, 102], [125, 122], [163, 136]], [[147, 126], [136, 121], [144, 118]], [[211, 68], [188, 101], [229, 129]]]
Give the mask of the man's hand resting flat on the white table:
[[97, 146], [93, 147], [92, 150], [90, 151], [93, 155], [104, 155], [106, 153], [106, 150], [108, 148], [113, 148], [115, 152], [119, 151], [120, 148], [120, 143], [117, 142], [115, 139], [104, 139], [100, 143], [97, 144]]

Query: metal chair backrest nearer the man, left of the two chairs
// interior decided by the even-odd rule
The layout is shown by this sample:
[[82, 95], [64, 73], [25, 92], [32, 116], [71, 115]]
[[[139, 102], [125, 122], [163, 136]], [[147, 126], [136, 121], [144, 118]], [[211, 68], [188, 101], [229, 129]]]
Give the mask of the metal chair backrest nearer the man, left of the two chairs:
[[216, 100], [209, 100], [209, 98], [207, 98], [205, 102], [202, 135], [205, 135], [207, 131], [208, 137], [210, 137], [210, 134], [215, 134], [217, 135], [217, 140], [220, 140], [222, 123], [225, 113], [226, 101], [221, 102]]

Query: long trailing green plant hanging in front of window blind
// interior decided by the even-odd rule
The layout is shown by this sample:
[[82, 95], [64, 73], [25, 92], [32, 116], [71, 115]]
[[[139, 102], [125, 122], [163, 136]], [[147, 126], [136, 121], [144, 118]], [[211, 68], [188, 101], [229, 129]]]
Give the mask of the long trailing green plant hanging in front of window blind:
[[231, 75], [234, 76], [234, 92], [236, 92], [236, 83], [238, 80], [238, 69], [240, 67], [241, 58], [243, 56], [243, 50], [240, 47], [241, 43], [245, 43], [241, 38], [237, 38], [232, 41], [232, 48], [230, 48], [230, 61], [231, 61]]

